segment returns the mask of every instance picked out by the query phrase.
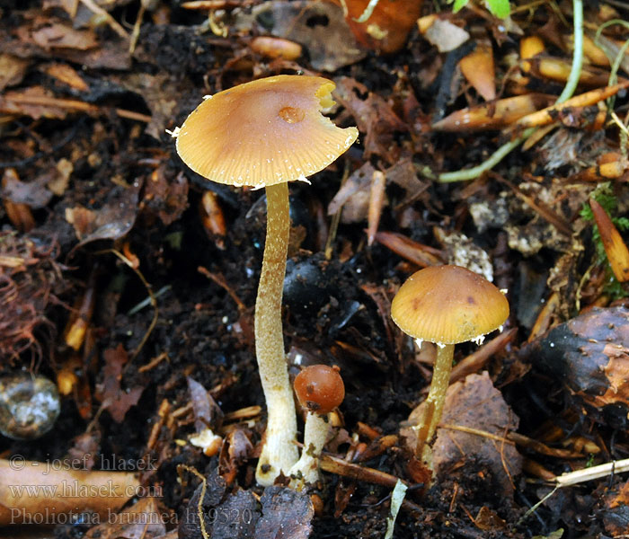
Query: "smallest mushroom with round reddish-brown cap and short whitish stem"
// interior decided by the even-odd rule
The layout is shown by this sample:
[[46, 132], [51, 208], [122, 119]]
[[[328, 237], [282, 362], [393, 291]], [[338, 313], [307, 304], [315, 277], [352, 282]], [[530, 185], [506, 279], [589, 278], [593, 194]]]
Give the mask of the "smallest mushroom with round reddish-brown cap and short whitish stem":
[[306, 409], [304, 449], [297, 463], [290, 469], [291, 485], [297, 490], [306, 483], [319, 480], [319, 456], [330, 429], [328, 414], [343, 402], [345, 386], [339, 367], [311, 365], [296, 377], [297, 401]]

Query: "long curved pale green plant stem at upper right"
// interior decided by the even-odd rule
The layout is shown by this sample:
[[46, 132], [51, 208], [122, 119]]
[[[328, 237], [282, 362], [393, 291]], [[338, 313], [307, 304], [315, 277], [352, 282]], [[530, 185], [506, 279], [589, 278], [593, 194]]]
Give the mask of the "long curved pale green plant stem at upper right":
[[[563, 87], [563, 92], [557, 98], [558, 103], [562, 103], [572, 97], [572, 94], [579, 84], [581, 67], [583, 66], [583, 2], [582, 0], [572, 0], [573, 27], [574, 27], [574, 52], [572, 53], [572, 66], [568, 80]], [[439, 183], [451, 183], [453, 181], [474, 180], [483, 172], [492, 170], [492, 168], [500, 163], [511, 151], [522, 144], [528, 137], [535, 133], [536, 128], [528, 128], [522, 135], [514, 140], [503, 144], [483, 163], [478, 164], [470, 169], [464, 169], [456, 172], [441, 172], [437, 175]]]

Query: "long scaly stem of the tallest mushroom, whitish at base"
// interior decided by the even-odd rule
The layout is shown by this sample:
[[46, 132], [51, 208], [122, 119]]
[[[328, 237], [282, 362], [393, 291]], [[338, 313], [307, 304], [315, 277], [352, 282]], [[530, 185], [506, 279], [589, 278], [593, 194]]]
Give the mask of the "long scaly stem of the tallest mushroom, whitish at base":
[[282, 334], [282, 291], [288, 252], [288, 184], [266, 188], [267, 237], [255, 302], [255, 351], [264, 398], [267, 429], [255, 478], [272, 485], [279, 473], [288, 474], [297, 462], [297, 415]]

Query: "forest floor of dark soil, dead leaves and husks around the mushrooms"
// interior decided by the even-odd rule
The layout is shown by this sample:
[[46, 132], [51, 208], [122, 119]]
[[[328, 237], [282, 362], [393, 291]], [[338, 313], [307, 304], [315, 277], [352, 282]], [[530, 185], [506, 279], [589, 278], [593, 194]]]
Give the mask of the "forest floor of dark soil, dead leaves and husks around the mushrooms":
[[[0, 478], [0, 536], [379, 538], [396, 484], [399, 539], [627, 536], [623, 473], [554, 488], [629, 457], [629, 9], [584, 3], [563, 96], [580, 100], [532, 117], [570, 78], [579, 1], [519, 0], [500, 19], [482, 3], [380, 0], [357, 22], [366, 4], [0, 1], [0, 431], [24, 373], [61, 400], [42, 436], [0, 437], [15, 472]], [[346, 396], [322, 480], [265, 491], [264, 191], [192, 172], [167, 130], [206, 94], [302, 73], [334, 81], [327, 114], [359, 140], [290, 184], [284, 339], [291, 376], [336, 365]], [[506, 290], [510, 315], [456, 346], [431, 476], [409, 427], [436, 348], [390, 307], [444, 263]], [[214, 446], [195, 438], [207, 429]], [[61, 494], [20, 498], [15, 484], [67, 479], [32, 463], [136, 490], [124, 508], [110, 491], [66, 509]]]

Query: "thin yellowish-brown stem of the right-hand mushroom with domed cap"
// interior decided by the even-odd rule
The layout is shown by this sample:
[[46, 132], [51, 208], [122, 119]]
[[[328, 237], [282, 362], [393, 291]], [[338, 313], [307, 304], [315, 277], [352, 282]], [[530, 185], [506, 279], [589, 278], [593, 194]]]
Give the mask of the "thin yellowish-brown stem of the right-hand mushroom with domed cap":
[[452, 359], [455, 355], [455, 345], [446, 344], [437, 347], [437, 359], [432, 370], [432, 382], [430, 382], [430, 392], [426, 397], [425, 410], [420, 423], [415, 427], [417, 431], [416, 455], [421, 455], [424, 460], [430, 449], [425, 448], [426, 443], [434, 436], [443, 405], [446, 402], [447, 386], [450, 383], [450, 372], [452, 371]]

